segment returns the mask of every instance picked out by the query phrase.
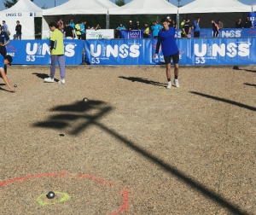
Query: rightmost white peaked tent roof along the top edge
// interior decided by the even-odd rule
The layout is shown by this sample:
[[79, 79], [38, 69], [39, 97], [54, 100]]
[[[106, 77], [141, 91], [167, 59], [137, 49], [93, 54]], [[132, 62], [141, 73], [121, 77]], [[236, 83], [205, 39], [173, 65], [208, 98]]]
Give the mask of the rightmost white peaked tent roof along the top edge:
[[195, 0], [178, 9], [179, 14], [251, 12], [252, 7], [237, 0]]

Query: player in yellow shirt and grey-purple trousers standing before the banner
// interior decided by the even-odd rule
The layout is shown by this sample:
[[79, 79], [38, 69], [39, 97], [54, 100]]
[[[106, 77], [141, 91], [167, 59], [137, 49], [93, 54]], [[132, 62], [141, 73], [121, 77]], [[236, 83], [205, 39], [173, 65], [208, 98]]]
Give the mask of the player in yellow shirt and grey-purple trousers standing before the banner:
[[52, 32], [50, 36], [50, 75], [49, 78], [44, 78], [44, 82], [53, 83], [55, 77], [56, 61], [59, 63], [61, 80], [58, 84], [65, 84], [65, 55], [63, 34], [59, 31], [59, 26], [55, 22], [49, 23], [49, 29]]

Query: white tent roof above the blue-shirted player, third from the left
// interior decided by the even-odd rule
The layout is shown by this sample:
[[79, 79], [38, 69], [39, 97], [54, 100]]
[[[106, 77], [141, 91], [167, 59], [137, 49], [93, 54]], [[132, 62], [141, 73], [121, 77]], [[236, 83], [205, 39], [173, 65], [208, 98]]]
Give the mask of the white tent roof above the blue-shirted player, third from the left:
[[109, 15], [171, 15], [177, 7], [166, 0], [133, 0], [118, 9], [109, 9]]

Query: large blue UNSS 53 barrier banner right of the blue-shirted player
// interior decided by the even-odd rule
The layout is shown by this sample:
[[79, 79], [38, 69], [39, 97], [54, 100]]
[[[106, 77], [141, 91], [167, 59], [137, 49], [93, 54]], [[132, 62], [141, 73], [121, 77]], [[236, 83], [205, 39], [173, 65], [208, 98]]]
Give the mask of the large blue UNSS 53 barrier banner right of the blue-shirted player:
[[253, 65], [256, 60], [254, 38], [216, 38], [191, 40], [192, 65]]

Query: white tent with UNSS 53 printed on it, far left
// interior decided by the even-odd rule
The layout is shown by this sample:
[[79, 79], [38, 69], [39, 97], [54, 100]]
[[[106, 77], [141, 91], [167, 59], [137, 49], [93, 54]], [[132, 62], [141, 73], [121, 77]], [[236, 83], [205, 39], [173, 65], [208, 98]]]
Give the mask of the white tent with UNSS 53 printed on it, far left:
[[15, 35], [16, 21], [19, 20], [22, 26], [22, 39], [34, 39], [34, 17], [42, 17], [43, 9], [32, 3], [31, 0], [19, 0], [13, 7], [0, 11], [0, 16], [9, 27], [10, 38]]

